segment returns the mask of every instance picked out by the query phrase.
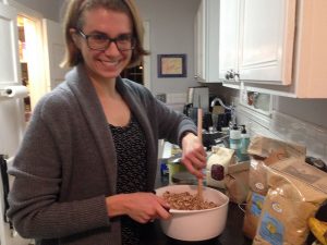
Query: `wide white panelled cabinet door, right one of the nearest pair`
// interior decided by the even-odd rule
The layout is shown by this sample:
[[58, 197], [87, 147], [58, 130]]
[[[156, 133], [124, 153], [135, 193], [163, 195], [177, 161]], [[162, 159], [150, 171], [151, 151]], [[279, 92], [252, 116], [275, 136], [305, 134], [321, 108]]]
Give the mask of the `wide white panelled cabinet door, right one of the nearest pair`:
[[290, 84], [295, 0], [246, 0], [243, 4], [239, 61], [241, 79]]

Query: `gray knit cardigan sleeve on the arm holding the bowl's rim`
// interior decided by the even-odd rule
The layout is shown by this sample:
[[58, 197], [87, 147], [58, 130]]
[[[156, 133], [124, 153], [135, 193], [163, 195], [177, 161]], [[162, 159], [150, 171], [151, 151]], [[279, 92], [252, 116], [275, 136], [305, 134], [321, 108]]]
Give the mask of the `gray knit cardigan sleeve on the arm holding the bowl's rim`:
[[[23, 237], [31, 238], [58, 238], [109, 226], [105, 196], [59, 201], [63, 159], [55, 140], [58, 136], [44, 120], [44, 102], [36, 107], [13, 167], [9, 170], [14, 182], [9, 194], [8, 217]], [[52, 109], [56, 123], [56, 108]], [[65, 139], [66, 144], [71, 144], [69, 134]]]

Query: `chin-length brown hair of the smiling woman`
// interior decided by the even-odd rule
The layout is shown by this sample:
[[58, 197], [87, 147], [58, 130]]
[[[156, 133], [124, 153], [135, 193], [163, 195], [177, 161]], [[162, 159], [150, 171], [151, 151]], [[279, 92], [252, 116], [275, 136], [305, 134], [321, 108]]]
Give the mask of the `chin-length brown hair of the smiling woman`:
[[132, 68], [140, 64], [143, 60], [143, 56], [149, 54], [149, 52], [143, 47], [143, 21], [134, 0], [66, 0], [63, 20], [65, 56], [61, 65], [72, 68], [83, 62], [82, 53], [73, 41], [70, 29], [82, 28], [84, 25], [83, 13], [96, 8], [122, 12], [131, 19], [133, 35], [136, 38], [136, 46], [133, 49], [133, 54], [128, 66]]

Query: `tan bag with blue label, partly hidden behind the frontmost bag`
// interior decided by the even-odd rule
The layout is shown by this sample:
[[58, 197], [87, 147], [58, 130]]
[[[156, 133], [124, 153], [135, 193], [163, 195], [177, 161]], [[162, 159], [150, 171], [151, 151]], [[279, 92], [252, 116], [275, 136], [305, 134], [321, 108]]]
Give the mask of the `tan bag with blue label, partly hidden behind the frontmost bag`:
[[296, 157], [305, 159], [305, 147], [263, 136], [251, 140], [247, 152], [250, 155], [249, 195], [246, 198], [243, 233], [254, 238], [258, 225], [262, 207], [268, 192], [267, 168], [283, 159]]

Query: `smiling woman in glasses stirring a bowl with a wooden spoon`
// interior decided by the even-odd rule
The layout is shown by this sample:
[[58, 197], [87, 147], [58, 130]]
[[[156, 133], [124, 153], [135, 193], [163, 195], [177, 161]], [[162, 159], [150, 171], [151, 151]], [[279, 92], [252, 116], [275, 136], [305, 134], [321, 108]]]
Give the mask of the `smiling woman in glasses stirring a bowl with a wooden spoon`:
[[38, 244], [140, 244], [142, 224], [170, 217], [152, 193], [158, 139], [180, 144], [203, 177], [191, 120], [120, 73], [147, 52], [133, 0], [70, 0], [65, 82], [34, 110], [10, 173], [8, 216]]

